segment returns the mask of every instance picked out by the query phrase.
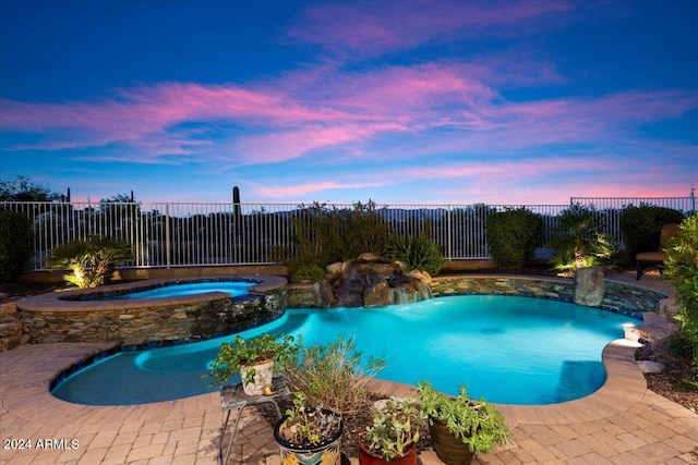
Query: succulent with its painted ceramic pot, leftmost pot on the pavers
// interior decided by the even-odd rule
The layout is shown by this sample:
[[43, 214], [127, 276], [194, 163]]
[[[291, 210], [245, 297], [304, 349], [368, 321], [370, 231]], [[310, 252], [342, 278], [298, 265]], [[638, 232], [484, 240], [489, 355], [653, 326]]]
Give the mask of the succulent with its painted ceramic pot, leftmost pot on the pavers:
[[345, 429], [341, 415], [305, 406], [305, 396], [297, 392], [293, 407], [274, 426], [282, 464], [339, 464], [340, 441]]

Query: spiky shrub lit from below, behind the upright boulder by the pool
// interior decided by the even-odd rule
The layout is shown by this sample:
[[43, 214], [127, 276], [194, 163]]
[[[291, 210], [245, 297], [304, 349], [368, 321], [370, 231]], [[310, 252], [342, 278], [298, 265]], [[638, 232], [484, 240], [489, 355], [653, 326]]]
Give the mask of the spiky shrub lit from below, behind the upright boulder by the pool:
[[604, 220], [587, 207], [575, 205], [557, 217], [547, 246], [553, 248], [554, 270], [574, 273], [579, 268], [614, 266], [617, 246], [603, 233]]

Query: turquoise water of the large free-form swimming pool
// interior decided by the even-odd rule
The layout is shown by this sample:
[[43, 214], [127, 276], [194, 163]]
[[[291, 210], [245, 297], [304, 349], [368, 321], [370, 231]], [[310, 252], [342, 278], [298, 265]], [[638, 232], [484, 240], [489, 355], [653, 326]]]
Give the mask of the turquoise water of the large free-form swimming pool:
[[[603, 347], [624, 336], [628, 317], [555, 301], [452, 296], [382, 308], [288, 309], [244, 331], [302, 334], [304, 344], [353, 335], [364, 357], [385, 354], [380, 379], [429, 380], [501, 404], [551, 404], [582, 397], [605, 381]], [[234, 335], [233, 335], [234, 336]], [[202, 380], [221, 342], [121, 352], [60, 382], [69, 402], [120, 405], [159, 402], [217, 390]], [[237, 381], [239, 379], [232, 379]]]

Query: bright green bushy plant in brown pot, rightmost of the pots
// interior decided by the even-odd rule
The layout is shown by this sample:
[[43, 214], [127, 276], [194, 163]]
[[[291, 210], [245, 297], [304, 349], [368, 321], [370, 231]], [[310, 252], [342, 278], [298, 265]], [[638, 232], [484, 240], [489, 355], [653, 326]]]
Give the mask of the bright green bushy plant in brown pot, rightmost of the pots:
[[491, 452], [509, 439], [509, 428], [496, 406], [470, 399], [465, 384], [453, 397], [423, 381], [419, 397], [436, 455], [447, 465], [469, 464], [476, 451]]

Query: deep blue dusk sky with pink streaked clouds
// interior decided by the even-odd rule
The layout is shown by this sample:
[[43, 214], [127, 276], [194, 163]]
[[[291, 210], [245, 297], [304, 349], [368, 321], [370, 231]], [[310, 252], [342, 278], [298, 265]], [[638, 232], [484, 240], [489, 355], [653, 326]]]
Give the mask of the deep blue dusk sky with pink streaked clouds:
[[0, 179], [74, 200], [698, 185], [698, 1], [0, 0]]

